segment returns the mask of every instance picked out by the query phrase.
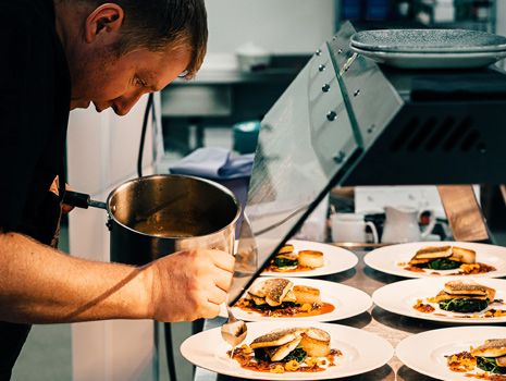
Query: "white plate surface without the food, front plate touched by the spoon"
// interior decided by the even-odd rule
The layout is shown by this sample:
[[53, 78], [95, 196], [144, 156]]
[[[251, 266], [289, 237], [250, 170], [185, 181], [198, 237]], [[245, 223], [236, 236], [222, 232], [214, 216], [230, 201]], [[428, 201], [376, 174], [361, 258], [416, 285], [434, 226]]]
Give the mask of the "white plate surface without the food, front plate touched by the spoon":
[[243, 369], [226, 354], [230, 345], [221, 339], [220, 328], [197, 333], [185, 340], [181, 353], [192, 364], [211, 371], [252, 380], [330, 380], [360, 374], [385, 365], [393, 356], [392, 345], [384, 339], [363, 330], [329, 323], [297, 323], [291, 321], [259, 321], [248, 323], [245, 343], [275, 329], [289, 327], [314, 327], [331, 335], [331, 348], [343, 352], [335, 358], [335, 367], [314, 373], [286, 372], [266, 373]]

